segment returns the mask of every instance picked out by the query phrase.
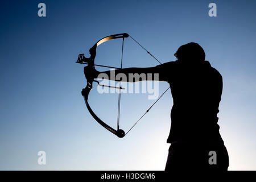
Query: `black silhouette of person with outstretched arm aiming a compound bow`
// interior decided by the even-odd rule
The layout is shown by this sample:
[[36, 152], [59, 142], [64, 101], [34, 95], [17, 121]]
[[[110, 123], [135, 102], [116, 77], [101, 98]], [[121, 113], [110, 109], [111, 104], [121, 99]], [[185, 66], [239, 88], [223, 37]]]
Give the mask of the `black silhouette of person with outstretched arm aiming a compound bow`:
[[[176, 61], [150, 68], [117, 69], [115, 74], [123, 73], [128, 78], [129, 73], [158, 73], [158, 81], [170, 84], [174, 105], [167, 139], [171, 146], [166, 171], [226, 171], [229, 156], [217, 124], [222, 76], [211, 67], [209, 61], [205, 61], [204, 49], [197, 43], [181, 46], [175, 56]], [[86, 78], [97, 78], [100, 73], [115, 79], [110, 77], [111, 71], [98, 72], [85, 67]], [[140, 78], [135, 81], [144, 80]]]

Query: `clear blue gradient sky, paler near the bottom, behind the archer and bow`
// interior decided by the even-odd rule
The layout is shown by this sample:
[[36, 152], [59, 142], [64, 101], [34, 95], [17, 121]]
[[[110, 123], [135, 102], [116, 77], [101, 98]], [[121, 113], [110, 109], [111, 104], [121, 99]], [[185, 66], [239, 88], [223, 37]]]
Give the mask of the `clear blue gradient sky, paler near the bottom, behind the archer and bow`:
[[[40, 2], [46, 3], [45, 18], [38, 16]], [[211, 2], [217, 17], [208, 16]], [[0, 169], [164, 169], [170, 92], [122, 139], [94, 121], [81, 96], [86, 80], [75, 63], [79, 53], [88, 56], [98, 39], [127, 32], [163, 63], [175, 60], [182, 44], [204, 48], [224, 79], [218, 123], [229, 169], [255, 170], [255, 7], [255, 1], [242, 0], [1, 1]], [[121, 43], [102, 44], [96, 63], [118, 67]], [[123, 67], [157, 64], [125, 40]], [[168, 84], [159, 86], [162, 93]], [[118, 94], [98, 94], [95, 88], [89, 96], [93, 110], [115, 127]], [[121, 129], [127, 131], [152, 102], [147, 94], [123, 94]], [[40, 166], [41, 150], [47, 164]]]

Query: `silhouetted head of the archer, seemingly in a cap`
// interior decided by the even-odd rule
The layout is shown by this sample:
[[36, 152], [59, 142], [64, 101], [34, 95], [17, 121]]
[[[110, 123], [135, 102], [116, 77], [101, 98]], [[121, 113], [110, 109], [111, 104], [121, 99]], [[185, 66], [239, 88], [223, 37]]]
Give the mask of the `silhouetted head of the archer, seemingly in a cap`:
[[199, 63], [205, 60], [204, 49], [194, 42], [180, 46], [174, 56], [177, 57], [179, 61], [188, 64]]

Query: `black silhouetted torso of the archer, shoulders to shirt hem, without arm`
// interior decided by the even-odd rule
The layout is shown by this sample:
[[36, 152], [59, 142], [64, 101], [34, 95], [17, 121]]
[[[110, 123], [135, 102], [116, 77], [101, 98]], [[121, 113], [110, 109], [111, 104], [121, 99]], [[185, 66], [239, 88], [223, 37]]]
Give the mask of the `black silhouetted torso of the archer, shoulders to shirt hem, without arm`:
[[190, 65], [174, 61], [160, 67], [166, 72], [174, 100], [167, 142], [223, 143], [217, 124], [222, 93], [220, 73], [208, 61]]

